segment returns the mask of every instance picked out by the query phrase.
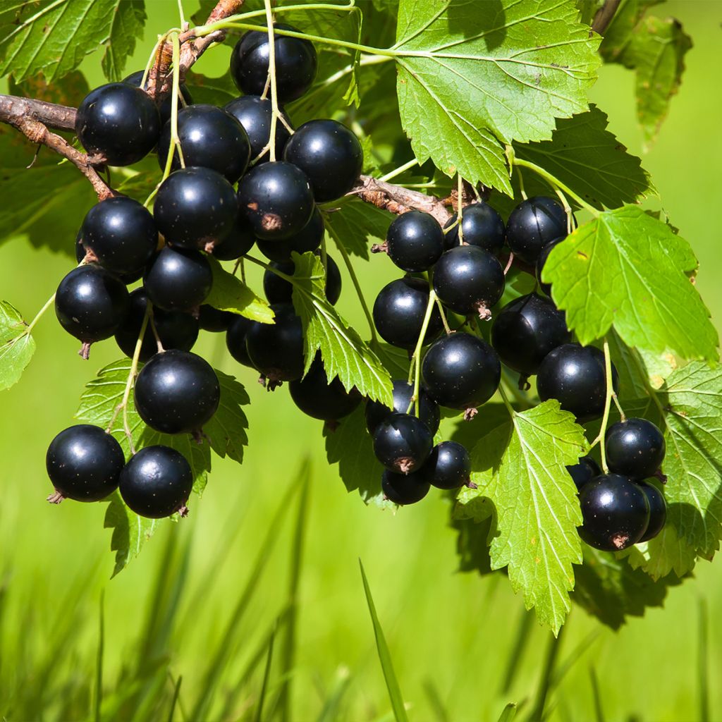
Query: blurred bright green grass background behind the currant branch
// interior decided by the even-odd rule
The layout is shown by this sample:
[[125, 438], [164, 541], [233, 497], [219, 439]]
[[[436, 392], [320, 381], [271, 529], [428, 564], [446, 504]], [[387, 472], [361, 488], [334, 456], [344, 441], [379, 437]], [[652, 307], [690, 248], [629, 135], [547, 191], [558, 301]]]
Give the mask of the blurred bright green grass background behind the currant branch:
[[[129, 71], [144, 64], [155, 32], [176, 22], [175, 2], [147, 5], [146, 38]], [[722, 3], [678, 1], [656, 12], [679, 17], [695, 47], [669, 118], [643, 162], [672, 222], [697, 251], [698, 288], [722, 318], [716, 222], [722, 104], [715, 90]], [[99, 61], [95, 55], [84, 64], [91, 84], [102, 82]], [[225, 63], [227, 49], [219, 48], [198, 69], [218, 75]], [[609, 113], [619, 140], [640, 154], [632, 88], [632, 74], [605, 67], [591, 100]], [[30, 161], [30, 149], [28, 154]], [[390, 264], [375, 261], [357, 264], [369, 298], [393, 275]], [[1, 295], [32, 316], [70, 267], [66, 256], [37, 251], [22, 239], [3, 245]], [[252, 271], [251, 277], [259, 288], [258, 275]], [[362, 325], [347, 277], [344, 282], [342, 313]], [[222, 337], [206, 334], [196, 348], [238, 375], [251, 393], [243, 466], [214, 458], [209, 485], [202, 500], [193, 500], [191, 516], [162, 525], [141, 557], [109, 580], [113, 560], [104, 505], [46, 505], [44, 456], [53, 435], [71, 423], [83, 384], [118, 354], [112, 343], [100, 344], [83, 363], [76, 342], [51, 314], [38, 326], [37, 340], [22, 382], [2, 396], [0, 715], [95, 716], [104, 593], [104, 719], [168, 718], [179, 677], [175, 720], [256, 718], [279, 617], [264, 719], [282, 718], [287, 680], [289, 720], [389, 719], [359, 558], [410, 719], [495, 720], [509, 701], [527, 700], [522, 717], [534, 708], [549, 634], [534, 619], [523, 622], [522, 601], [506, 580], [456, 573], [446, 502], [430, 495], [393, 515], [347, 495], [326, 464], [321, 422], [297, 413], [285, 388], [266, 394], [251, 371], [227, 358]], [[297, 516], [300, 469], [307, 461], [308, 508]], [[284, 518], [274, 525], [284, 507]], [[287, 638], [292, 596], [295, 643]], [[559, 680], [552, 674], [549, 718], [601, 719], [599, 708], [608, 720], [705, 718], [700, 600], [710, 610], [722, 602], [721, 575], [705, 562], [694, 580], [669, 593], [664, 610], [653, 609], [619, 632], [573, 610], [557, 646], [556, 674], [567, 671]], [[523, 644], [516, 645], [520, 629]], [[716, 680], [722, 627], [714, 614], [705, 640], [709, 679]], [[708, 718], [720, 719], [722, 688], [710, 684], [708, 692]]]

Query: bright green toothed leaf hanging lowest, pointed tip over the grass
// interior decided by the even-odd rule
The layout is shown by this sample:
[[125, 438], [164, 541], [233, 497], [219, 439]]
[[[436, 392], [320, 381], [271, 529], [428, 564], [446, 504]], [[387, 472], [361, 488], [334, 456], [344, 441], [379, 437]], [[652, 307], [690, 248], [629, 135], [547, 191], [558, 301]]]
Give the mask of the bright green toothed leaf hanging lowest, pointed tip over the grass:
[[[582, 427], [555, 400], [525, 412], [484, 436], [474, 447], [471, 479], [459, 503], [483, 497], [474, 518], [495, 514], [492, 569], [508, 567], [527, 609], [557, 634], [570, 609], [573, 564], [581, 562], [581, 511], [566, 466], [588, 450]], [[479, 502], [477, 502], [478, 504]], [[487, 510], [488, 508], [488, 510]], [[460, 513], [463, 513], [460, 510]]]

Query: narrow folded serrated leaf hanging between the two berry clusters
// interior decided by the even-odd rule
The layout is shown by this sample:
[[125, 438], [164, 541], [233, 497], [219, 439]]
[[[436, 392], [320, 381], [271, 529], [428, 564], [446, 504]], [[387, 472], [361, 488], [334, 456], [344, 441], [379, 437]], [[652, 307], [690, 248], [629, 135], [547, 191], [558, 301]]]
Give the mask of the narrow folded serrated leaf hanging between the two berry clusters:
[[378, 356], [326, 300], [326, 274], [313, 253], [292, 254], [293, 305], [303, 323], [305, 372], [320, 349], [329, 380], [338, 376], [344, 388], [392, 406], [391, 377]]

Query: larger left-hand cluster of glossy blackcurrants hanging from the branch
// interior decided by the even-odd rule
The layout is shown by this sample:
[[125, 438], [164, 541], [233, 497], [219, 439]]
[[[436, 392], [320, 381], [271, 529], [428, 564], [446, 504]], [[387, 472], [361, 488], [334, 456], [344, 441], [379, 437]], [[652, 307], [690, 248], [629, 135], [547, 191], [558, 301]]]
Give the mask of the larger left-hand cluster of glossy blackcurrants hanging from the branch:
[[[295, 30], [277, 25], [277, 30]], [[291, 303], [292, 252], [317, 252], [324, 225], [317, 204], [344, 195], [357, 183], [363, 153], [342, 123], [309, 121], [292, 131], [282, 104], [303, 95], [316, 75], [316, 50], [308, 40], [275, 38], [279, 114], [269, 90], [269, 38], [243, 35], [232, 51], [231, 73], [244, 95], [225, 108], [192, 105], [181, 86], [173, 172], [157, 188], [152, 214], [116, 195], [87, 213], [76, 240], [79, 266], [61, 281], [56, 315], [90, 344], [115, 336], [142, 367], [134, 384], [141, 419], [165, 434], [197, 437], [217, 411], [219, 380], [191, 352], [199, 329], [225, 331], [231, 354], [256, 368], [271, 388], [290, 381], [300, 408], [324, 419], [341, 417], [360, 403], [320, 359], [303, 375], [303, 331]], [[173, 133], [171, 104], [158, 105], [141, 89], [143, 74], [90, 92], [77, 111], [76, 131], [88, 152], [108, 165], [131, 165], [154, 149], [166, 167]], [[271, 128], [274, 155], [270, 162]], [[237, 188], [234, 187], [238, 183]], [[204, 304], [212, 289], [208, 256], [230, 261], [257, 245], [271, 263], [264, 289], [275, 323], [249, 321]], [[326, 256], [326, 293], [335, 303], [341, 277]], [[142, 279], [129, 293], [127, 285]], [[142, 339], [140, 339], [141, 334]], [[142, 516], [168, 516], [186, 508], [193, 474], [186, 458], [166, 445], [143, 448], [125, 463], [115, 438], [92, 425], [76, 425], [53, 439], [50, 498], [95, 501], [119, 487]]]

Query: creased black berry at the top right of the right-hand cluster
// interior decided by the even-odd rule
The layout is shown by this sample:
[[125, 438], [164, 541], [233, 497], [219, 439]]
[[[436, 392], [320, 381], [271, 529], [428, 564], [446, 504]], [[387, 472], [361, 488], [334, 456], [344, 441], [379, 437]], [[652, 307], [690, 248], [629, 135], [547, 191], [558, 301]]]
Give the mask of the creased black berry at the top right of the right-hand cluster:
[[545, 245], [564, 235], [567, 235], [567, 214], [558, 201], [547, 196], [521, 201], [506, 224], [509, 248], [521, 261], [532, 266]]

